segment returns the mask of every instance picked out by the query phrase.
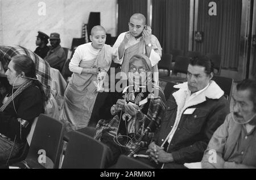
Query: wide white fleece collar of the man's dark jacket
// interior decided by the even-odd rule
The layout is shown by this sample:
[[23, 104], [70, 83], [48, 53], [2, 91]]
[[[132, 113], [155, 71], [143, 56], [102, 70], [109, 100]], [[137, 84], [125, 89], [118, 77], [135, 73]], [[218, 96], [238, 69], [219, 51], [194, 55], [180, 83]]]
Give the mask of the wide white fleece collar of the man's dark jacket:
[[[184, 82], [174, 86], [176, 89], [179, 89], [172, 95], [174, 96], [177, 105], [179, 106], [179, 102], [184, 102], [184, 98], [188, 91], [188, 82]], [[224, 95], [224, 91], [217, 85], [216, 82], [210, 81], [209, 86], [203, 92], [193, 98], [188, 106], [195, 106], [196, 104], [200, 104], [206, 101], [207, 98], [209, 99], [220, 99]]]

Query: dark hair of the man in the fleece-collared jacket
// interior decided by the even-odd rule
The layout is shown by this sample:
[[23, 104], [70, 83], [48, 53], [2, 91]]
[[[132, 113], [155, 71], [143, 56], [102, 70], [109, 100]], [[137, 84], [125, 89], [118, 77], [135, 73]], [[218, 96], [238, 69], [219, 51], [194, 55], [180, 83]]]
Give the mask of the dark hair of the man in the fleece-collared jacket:
[[207, 57], [193, 57], [191, 58], [189, 64], [192, 66], [203, 66], [205, 68], [205, 73], [208, 75], [213, 73], [213, 63]]

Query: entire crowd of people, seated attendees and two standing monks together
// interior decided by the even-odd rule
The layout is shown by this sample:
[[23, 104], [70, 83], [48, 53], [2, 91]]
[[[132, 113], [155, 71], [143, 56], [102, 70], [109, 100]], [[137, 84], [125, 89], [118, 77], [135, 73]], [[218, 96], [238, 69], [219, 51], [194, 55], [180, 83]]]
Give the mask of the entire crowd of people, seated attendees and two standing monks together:
[[[193, 57], [187, 82], [176, 84], [166, 99], [158, 86], [162, 48], [144, 15], [130, 17], [129, 31], [113, 47], [105, 44], [102, 26], [92, 28], [90, 40], [76, 48], [69, 63], [73, 74], [59, 120], [66, 132], [88, 127], [98, 95], [107, 92], [94, 137], [110, 149], [106, 168], [121, 154], [154, 168], [185, 168], [191, 162], [201, 162], [202, 168], [256, 168], [255, 81], [237, 84], [230, 112], [224, 91], [212, 80], [212, 62]], [[0, 48], [0, 74], [5, 76], [0, 89], [0, 164], [18, 154], [34, 119], [47, 113], [49, 68], [61, 70], [65, 62], [59, 34], [39, 31], [36, 45], [40, 58], [13, 50], [16, 55], [6, 60], [6, 47]], [[112, 62], [121, 66], [114, 78], [107, 75]], [[113, 83], [114, 91], [105, 82]]]

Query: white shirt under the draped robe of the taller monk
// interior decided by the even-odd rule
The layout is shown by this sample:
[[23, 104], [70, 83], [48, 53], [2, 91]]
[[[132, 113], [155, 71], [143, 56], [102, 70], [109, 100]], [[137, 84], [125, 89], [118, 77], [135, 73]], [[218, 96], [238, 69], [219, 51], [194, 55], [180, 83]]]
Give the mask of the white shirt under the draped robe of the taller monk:
[[[113, 45], [113, 48], [115, 48], [115, 49], [117, 49], [117, 53], [118, 53], [118, 47], [119, 47], [119, 45], [122, 43], [122, 41], [123, 41], [123, 39], [125, 38], [125, 34], [126, 34], [126, 32], [123, 32], [123, 33], [121, 33], [118, 37], [117, 37], [117, 40], [115, 41], [115, 44]], [[138, 39], [135, 39], [135, 37], [131, 37], [130, 39], [129, 39], [129, 41], [128, 41], [128, 43], [125, 45], [125, 49], [127, 49], [127, 48], [129, 48], [129, 47], [131, 47], [132, 45], [134, 45], [134, 44], [137, 44], [137, 43], [139, 43], [139, 41], [141, 41], [141, 38], [142, 37], [139, 37]], [[153, 43], [153, 42], [151, 42], [152, 44], [157, 44], [157, 43]], [[159, 44], [160, 45], [160, 44]], [[152, 50], [153, 50], [154, 48], [152, 47]], [[146, 53], [146, 50], [144, 50], [145, 52], [144, 53]], [[151, 65], [152, 66], [154, 66], [154, 65], [156, 65], [156, 64], [158, 64], [158, 61], [160, 61], [161, 60], [161, 56], [162, 56], [162, 48], [161, 47], [159, 47], [158, 49], [154, 49], [154, 51], [151, 51], [150, 52], [150, 61], [151, 61]], [[122, 56], [122, 58], [120, 58], [119, 59], [119, 55], [117, 55], [117, 63], [119, 63], [119, 64], [122, 64], [122, 62], [123, 62], [123, 56]]]

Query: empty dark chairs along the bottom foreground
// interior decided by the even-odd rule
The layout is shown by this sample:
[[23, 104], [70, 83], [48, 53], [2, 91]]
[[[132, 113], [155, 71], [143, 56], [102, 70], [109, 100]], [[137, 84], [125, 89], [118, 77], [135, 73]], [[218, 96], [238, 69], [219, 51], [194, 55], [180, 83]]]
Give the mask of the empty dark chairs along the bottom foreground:
[[[105, 168], [109, 147], [93, 138], [95, 129], [86, 127], [64, 135], [59, 120], [41, 114], [36, 122], [31, 144], [25, 146], [22, 156], [9, 161], [19, 168], [102, 169]], [[68, 141], [63, 157], [63, 144]], [[19, 154], [20, 155], [20, 154]], [[18, 162], [20, 161], [20, 162]], [[61, 163], [62, 162], [62, 163]], [[134, 158], [121, 156], [114, 168], [151, 168]]]

